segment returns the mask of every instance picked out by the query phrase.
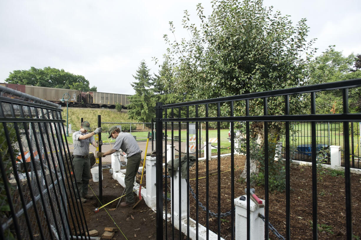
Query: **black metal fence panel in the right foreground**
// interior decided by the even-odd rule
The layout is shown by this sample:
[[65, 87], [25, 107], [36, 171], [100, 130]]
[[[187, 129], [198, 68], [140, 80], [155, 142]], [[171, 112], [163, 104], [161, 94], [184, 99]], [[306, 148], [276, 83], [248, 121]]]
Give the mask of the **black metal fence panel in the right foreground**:
[[[190, 162], [186, 161], [183, 164], [187, 164], [186, 169], [187, 172], [186, 178], [189, 180], [190, 175], [195, 176], [195, 182], [190, 184], [190, 181], [187, 181], [187, 189], [192, 189], [192, 195], [190, 196], [190, 191], [187, 191], [185, 195], [179, 194], [179, 199], [177, 203], [181, 203], [181, 199], [186, 199], [187, 201], [187, 209], [186, 209], [186, 218], [184, 221], [187, 222], [187, 229], [183, 232], [188, 236], [190, 228], [193, 226], [196, 228], [196, 239], [198, 239], [198, 232], [199, 232], [199, 223], [201, 218], [204, 220], [204, 226], [206, 228], [206, 239], [209, 239], [209, 230], [211, 222], [214, 223], [216, 221], [216, 229], [213, 230], [218, 235], [218, 239], [221, 237], [226, 237], [227, 239], [235, 239], [235, 227], [242, 228], [243, 231], [247, 232], [247, 239], [250, 239], [250, 169], [251, 169], [251, 155], [253, 150], [253, 144], [251, 139], [255, 136], [252, 133], [255, 133], [255, 128], [261, 128], [263, 130], [258, 131], [261, 133], [262, 141], [263, 141], [263, 149], [264, 149], [264, 198], [265, 198], [265, 222], [269, 222], [269, 194], [270, 194], [270, 185], [269, 185], [269, 159], [273, 156], [269, 156], [269, 151], [271, 148], [274, 148], [274, 132], [272, 132], [270, 126], [276, 125], [279, 126], [279, 130], [284, 133], [284, 159], [283, 167], [285, 169], [285, 178], [286, 178], [286, 185], [285, 185], [285, 194], [286, 194], [286, 201], [284, 203], [284, 209], [286, 213], [286, 218], [284, 219], [284, 225], [286, 228], [284, 237], [286, 239], [291, 239], [291, 203], [290, 203], [290, 163], [291, 163], [291, 152], [292, 152], [292, 125], [299, 123], [310, 123], [310, 142], [308, 143], [310, 149], [310, 159], [312, 161], [312, 221], [310, 223], [310, 228], [312, 228], [312, 236], [313, 239], [318, 239], [318, 193], [317, 193], [317, 156], [318, 156], [318, 142], [317, 139], [317, 128], [318, 124], [320, 123], [332, 123], [332, 124], [340, 124], [342, 125], [342, 143], [344, 149], [344, 179], [345, 179], [345, 187], [344, 187], [344, 197], [345, 197], [345, 212], [342, 214], [344, 217], [344, 229], [345, 229], [345, 236], [346, 239], [352, 239], [353, 231], [352, 231], [352, 209], [351, 209], [351, 184], [350, 184], [350, 123], [352, 122], [360, 122], [361, 121], [361, 114], [360, 112], [355, 114], [349, 113], [349, 104], [348, 104], [348, 90], [351, 88], [359, 88], [361, 86], [361, 79], [354, 79], [354, 80], [347, 80], [347, 81], [340, 81], [335, 83], [326, 83], [326, 84], [318, 84], [313, 86], [303, 86], [298, 88], [291, 88], [291, 89], [282, 89], [282, 90], [274, 90], [262, 93], [253, 93], [253, 94], [243, 94], [243, 95], [236, 95], [231, 97], [222, 97], [222, 98], [214, 98], [214, 99], [206, 99], [202, 101], [192, 101], [192, 102], [185, 102], [185, 103], [178, 103], [178, 104], [170, 104], [170, 105], [162, 105], [162, 103], [158, 103], [156, 106], [156, 171], [157, 171], [157, 239], [163, 239], [164, 236], [168, 236], [169, 232], [179, 231], [181, 233], [180, 228], [176, 229], [175, 224], [179, 220], [175, 218], [174, 212], [181, 212], [182, 209], [181, 205], [174, 205], [174, 202], [169, 204], [168, 200], [164, 200], [164, 196], [166, 199], [173, 199], [174, 196], [174, 189], [178, 185], [177, 182], [174, 181], [173, 177], [169, 177], [168, 172], [168, 165], [171, 165], [170, 168], [173, 169], [174, 164], [174, 157], [173, 151], [170, 153], [165, 152], [163, 154], [163, 144], [164, 145], [175, 145], [179, 144], [180, 142], [174, 142], [174, 132], [173, 129], [176, 125], [180, 123], [193, 123], [196, 126], [196, 138], [198, 138], [198, 131], [197, 129], [200, 128], [200, 124], [205, 122], [205, 131], [206, 131], [206, 139], [208, 139], [208, 131], [209, 126], [212, 123], [212, 126], [216, 126], [218, 130], [218, 138], [220, 139], [220, 129], [221, 126], [226, 126], [227, 124], [231, 124], [230, 132], [234, 132], [234, 123], [235, 122], [245, 122], [245, 145], [244, 151], [246, 155], [246, 165], [245, 169], [247, 170], [247, 225], [245, 226], [235, 226], [234, 219], [235, 219], [235, 212], [234, 212], [234, 199], [235, 197], [235, 164], [234, 164], [234, 135], [231, 134], [230, 138], [230, 148], [231, 148], [231, 162], [227, 172], [230, 173], [229, 181], [230, 185], [227, 186], [230, 188], [230, 195], [224, 195], [222, 192], [224, 188], [221, 188], [221, 182], [224, 179], [221, 177], [221, 166], [223, 167], [223, 160], [220, 152], [218, 151], [216, 157], [216, 175], [217, 175], [217, 185], [210, 186], [210, 172], [209, 172], [209, 164], [211, 163], [210, 156], [208, 154], [208, 144], [206, 145], [205, 151], [205, 160], [200, 161], [199, 156], [195, 155], [195, 163], [192, 168], [192, 172], [190, 172]], [[316, 92], [321, 91], [332, 91], [338, 90], [343, 95], [343, 113], [342, 114], [318, 114], [316, 109]], [[269, 101], [270, 99], [281, 99], [277, 102], [276, 106], [270, 106]], [[295, 99], [297, 101], [295, 101]], [[293, 100], [293, 101], [292, 101]], [[299, 108], [297, 106], [297, 102], [308, 102], [308, 113], [307, 114], [297, 114], [292, 113], [291, 110]], [[292, 103], [290, 105], [290, 102]], [[261, 104], [263, 110], [254, 112], [255, 104]], [[228, 108], [228, 111], [224, 111], [225, 108]], [[243, 109], [242, 112], [244, 114], [239, 114], [239, 109]], [[277, 114], [274, 114], [274, 109], [279, 109]], [[272, 110], [272, 111], [271, 111]], [[261, 114], [260, 114], [261, 112]], [[269, 114], [272, 112], [272, 114]], [[164, 125], [166, 127], [164, 128]], [[170, 126], [170, 133], [167, 133], [168, 126]], [[189, 129], [189, 128], [187, 128]], [[162, 131], [165, 131], [166, 135], [170, 137], [163, 138]], [[179, 135], [181, 133], [179, 132]], [[187, 132], [188, 134], [188, 132]], [[188, 134], [189, 135], [189, 134]], [[189, 137], [187, 137], [189, 139]], [[277, 139], [276, 139], [277, 140]], [[208, 141], [208, 140], [207, 140]], [[188, 145], [188, 140], [187, 140]], [[299, 144], [302, 145], [302, 144]], [[198, 152], [199, 143], [196, 141], [196, 152]], [[218, 142], [218, 149], [220, 148], [220, 143]], [[165, 160], [169, 158], [167, 156], [170, 154], [171, 161], [168, 161], [168, 164], [165, 163]], [[181, 155], [177, 154], [175, 158], [181, 158]], [[190, 154], [189, 151], [187, 152], [186, 157], [189, 159]], [[258, 159], [260, 160], [260, 159]], [[214, 160], [213, 160], [214, 161]], [[165, 165], [163, 165], [165, 163]], [[201, 164], [202, 163], [202, 164]], [[194, 167], [195, 166], [195, 167]], [[181, 169], [182, 163], [180, 163], [179, 168]], [[205, 170], [204, 184], [200, 183], [201, 176], [198, 175], [201, 168]], [[222, 171], [225, 169], [223, 168]], [[181, 175], [184, 173], [181, 173]], [[169, 179], [172, 179], [170, 181]], [[203, 181], [203, 180], [202, 180]], [[223, 186], [223, 185], [222, 185]], [[180, 183], [179, 183], [179, 187]], [[205, 194], [200, 195], [199, 192], [201, 188], [205, 189]], [[263, 195], [263, 193], [262, 193]], [[192, 199], [195, 199], [194, 201]], [[200, 204], [202, 203], [202, 204]], [[202, 205], [203, 207], [199, 208]], [[210, 205], [216, 205], [216, 209], [210, 209]], [[221, 209], [224, 209], [225, 205], [227, 206], [230, 211], [227, 213], [230, 217], [224, 221], [222, 217], [224, 216], [224, 212], [221, 212]], [[192, 209], [192, 210], [190, 210]], [[205, 211], [203, 211], [205, 210]], [[215, 213], [214, 215], [211, 214]], [[205, 212], [205, 213], [203, 213]], [[202, 216], [202, 217], [200, 217]], [[165, 217], [165, 220], [164, 220]], [[177, 220], [178, 219], [178, 220]], [[194, 219], [195, 224], [190, 224], [191, 219]], [[179, 220], [179, 224], [181, 223]], [[177, 224], [176, 224], [177, 225]], [[227, 229], [227, 236], [223, 236], [224, 229]], [[308, 228], [308, 227], [307, 227]], [[306, 230], [308, 232], [309, 229]], [[265, 239], [269, 239], [269, 230], [268, 225], [265, 225]], [[174, 235], [173, 235], [174, 236]]]

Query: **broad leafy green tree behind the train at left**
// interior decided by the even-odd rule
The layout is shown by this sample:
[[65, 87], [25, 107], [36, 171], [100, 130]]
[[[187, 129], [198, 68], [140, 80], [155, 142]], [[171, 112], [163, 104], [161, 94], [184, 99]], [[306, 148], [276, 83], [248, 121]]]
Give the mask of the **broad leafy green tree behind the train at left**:
[[96, 87], [89, 87], [89, 81], [82, 75], [65, 72], [64, 69], [31, 67], [29, 70], [14, 70], [5, 79], [7, 83], [44, 86], [48, 88], [76, 89], [83, 92], [96, 92]]

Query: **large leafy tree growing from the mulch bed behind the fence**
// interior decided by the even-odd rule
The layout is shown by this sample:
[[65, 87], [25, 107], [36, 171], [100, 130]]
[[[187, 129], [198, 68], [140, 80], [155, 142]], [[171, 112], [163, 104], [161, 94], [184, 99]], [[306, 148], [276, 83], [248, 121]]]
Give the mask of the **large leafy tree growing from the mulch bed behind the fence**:
[[[207, 18], [198, 4], [200, 25], [190, 23], [185, 11], [183, 27], [190, 39], [170, 40], [165, 57], [176, 76], [177, 93], [187, 93], [192, 99], [216, 98], [229, 95], [262, 92], [304, 85], [308, 77], [308, 65], [315, 49], [314, 40], [306, 40], [308, 26], [301, 19], [296, 26], [289, 16], [273, 12], [263, 6], [262, 0], [214, 0], [213, 12]], [[171, 33], [175, 28], [170, 22]], [[298, 111], [301, 96], [292, 96], [291, 111]], [[268, 100], [269, 114], [283, 114], [283, 98]], [[224, 104], [222, 111], [229, 111]], [[263, 114], [263, 100], [252, 101], [251, 114]], [[244, 103], [235, 106], [235, 115], [244, 115]], [[277, 142], [281, 125], [270, 124], [270, 142]], [[253, 135], [262, 149], [264, 126], [254, 123]], [[274, 156], [274, 154], [273, 154]], [[273, 157], [270, 157], [270, 164]], [[258, 173], [258, 163], [252, 159], [253, 172]], [[243, 174], [245, 176], [245, 174]]]

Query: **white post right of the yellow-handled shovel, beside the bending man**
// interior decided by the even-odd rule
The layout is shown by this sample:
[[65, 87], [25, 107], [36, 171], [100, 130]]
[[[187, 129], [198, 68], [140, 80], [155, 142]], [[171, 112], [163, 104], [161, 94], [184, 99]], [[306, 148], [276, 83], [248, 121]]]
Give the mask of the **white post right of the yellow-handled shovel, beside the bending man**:
[[156, 208], [156, 157], [147, 156], [145, 161], [147, 169], [147, 197], [144, 198], [145, 204], [149, 208]]

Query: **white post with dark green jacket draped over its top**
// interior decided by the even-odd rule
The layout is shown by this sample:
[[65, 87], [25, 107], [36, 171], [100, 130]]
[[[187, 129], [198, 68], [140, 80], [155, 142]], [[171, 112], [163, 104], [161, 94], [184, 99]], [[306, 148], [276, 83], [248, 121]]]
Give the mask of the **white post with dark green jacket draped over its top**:
[[[173, 170], [173, 177], [170, 179], [171, 186], [174, 186], [174, 199], [171, 194], [171, 207], [172, 205], [174, 207], [174, 226], [179, 229], [179, 216], [181, 216], [181, 219], [187, 217], [187, 182], [186, 179], [179, 177], [179, 169]], [[172, 183], [173, 181], [174, 183]], [[179, 181], [181, 181], [180, 187]], [[179, 213], [179, 206], [181, 206], [181, 213]]]

